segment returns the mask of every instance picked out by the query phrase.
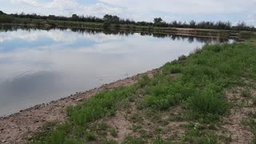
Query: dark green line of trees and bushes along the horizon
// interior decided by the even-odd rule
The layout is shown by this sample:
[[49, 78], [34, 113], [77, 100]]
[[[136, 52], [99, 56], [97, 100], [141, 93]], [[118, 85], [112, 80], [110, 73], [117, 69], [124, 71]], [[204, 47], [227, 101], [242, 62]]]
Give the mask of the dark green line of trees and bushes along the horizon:
[[[0, 10], [0, 14], [5, 14]], [[236, 26], [232, 26], [231, 22], [195, 22], [194, 20], [190, 22], [165, 22], [162, 18], [154, 18], [154, 22], [135, 22], [129, 18], [119, 18], [116, 15], [106, 14], [103, 18], [98, 18], [95, 16], [84, 16], [73, 14], [70, 17], [65, 16], [55, 16], [55, 15], [38, 15], [38, 14], [8, 14], [14, 18], [34, 18], [34, 19], [50, 19], [50, 20], [60, 20], [60, 21], [75, 21], [75, 22], [104, 22], [104, 26], [110, 26], [110, 24], [127, 24], [136, 26], [159, 26], [159, 27], [178, 27], [178, 28], [197, 28], [197, 29], [215, 29], [215, 30], [254, 30], [254, 26], [247, 26], [246, 22], [238, 22]]]

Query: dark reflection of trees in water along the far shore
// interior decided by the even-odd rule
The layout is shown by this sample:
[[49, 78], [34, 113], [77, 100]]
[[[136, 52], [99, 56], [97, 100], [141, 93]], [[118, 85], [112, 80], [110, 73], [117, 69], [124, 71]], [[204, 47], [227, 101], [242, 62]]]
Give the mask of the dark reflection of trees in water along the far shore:
[[149, 32], [137, 32], [134, 30], [97, 30], [97, 29], [78, 29], [78, 28], [50, 28], [50, 27], [39, 27], [39, 26], [0, 26], [0, 32], [17, 31], [17, 30], [71, 30], [78, 34], [118, 34], [121, 36], [129, 36], [132, 34], [140, 34], [142, 36], [153, 36], [154, 38], [170, 38], [172, 40], [183, 40], [187, 42], [201, 42], [201, 43], [218, 43], [218, 42], [229, 42], [228, 38], [209, 38], [209, 37], [198, 37], [180, 34], [159, 34]]

